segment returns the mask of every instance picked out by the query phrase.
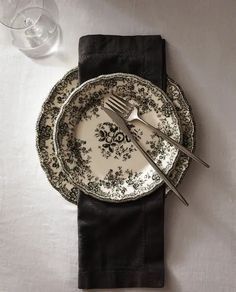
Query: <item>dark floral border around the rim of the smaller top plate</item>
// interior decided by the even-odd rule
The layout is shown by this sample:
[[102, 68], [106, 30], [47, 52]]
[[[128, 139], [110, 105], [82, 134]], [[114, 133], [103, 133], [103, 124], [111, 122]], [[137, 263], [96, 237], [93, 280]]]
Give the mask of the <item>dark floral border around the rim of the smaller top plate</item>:
[[[145, 171], [140, 172], [140, 168], [135, 170], [135, 163], [132, 163], [130, 167], [133, 170], [133, 177], [137, 179], [144, 176], [148, 177], [148, 179], [144, 180], [145, 184], [135, 188], [135, 180], [132, 177], [129, 180], [130, 184], [126, 183], [125, 173], [127, 173], [127, 166], [125, 164], [119, 165], [122, 167], [121, 173], [124, 174], [123, 181], [121, 176], [119, 178], [122, 190], [118, 188], [110, 189], [106, 187], [104, 180], [100, 179], [100, 177], [101, 175], [106, 177], [112, 162], [106, 163], [104, 160], [102, 174], [100, 167], [92, 171], [92, 165], [97, 168], [96, 163], [93, 164], [98, 155], [97, 149], [95, 148], [91, 152], [94, 158], [88, 159], [86, 155], [83, 155], [83, 152], [79, 153], [74, 147], [76, 141], [75, 129], [82, 120], [93, 120], [93, 127], [97, 124], [97, 118], [100, 118], [103, 122], [107, 120], [107, 115], [102, 110], [101, 104], [104, 97], [109, 96], [112, 91], [119, 92], [124, 98], [132, 99], [143, 114], [150, 115], [150, 113], [155, 113], [158, 128], [169, 134], [176, 141], [181, 141], [182, 132], [178, 114], [165, 92], [150, 81], [136, 75], [126, 73], [101, 75], [84, 82], [71, 93], [61, 108], [54, 128], [54, 147], [60, 164], [74, 184], [86, 194], [100, 200], [123, 202], [135, 200], [153, 192], [154, 189], [163, 184], [162, 178], [157, 174], [153, 174], [152, 167], [146, 168], [145, 166]], [[153, 105], [150, 105], [151, 102]], [[87, 138], [89, 139], [89, 137]], [[154, 137], [143, 138], [142, 142], [148, 144], [148, 139], [153, 140]], [[93, 147], [96, 142], [93, 141], [91, 143]], [[158, 167], [168, 175], [176, 164], [179, 150], [167, 141], [162, 141], [158, 136], [156, 143], [158, 151], [152, 152], [156, 154], [152, 158], [156, 161]], [[139, 161], [139, 159], [133, 159], [133, 162]], [[147, 165], [149, 164], [147, 163]], [[137, 172], [139, 176], [137, 176]], [[114, 176], [113, 179], [118, 180], [118, 177]], [[88, 187], [89, 183], [93, 184], [93, 189]]]

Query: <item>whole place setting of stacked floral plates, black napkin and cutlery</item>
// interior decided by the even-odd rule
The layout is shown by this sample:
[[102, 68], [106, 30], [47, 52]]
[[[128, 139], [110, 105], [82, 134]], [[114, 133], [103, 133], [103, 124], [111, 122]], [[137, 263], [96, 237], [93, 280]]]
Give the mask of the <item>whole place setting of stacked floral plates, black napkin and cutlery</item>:
[[41, 166], [78, 208], [78, 288], [163, 287], [166, 197], [188, 206], [190, 163], [209, 168], [165, 58], [161, 36], [82, 36], [78, 67], [42, 105]]

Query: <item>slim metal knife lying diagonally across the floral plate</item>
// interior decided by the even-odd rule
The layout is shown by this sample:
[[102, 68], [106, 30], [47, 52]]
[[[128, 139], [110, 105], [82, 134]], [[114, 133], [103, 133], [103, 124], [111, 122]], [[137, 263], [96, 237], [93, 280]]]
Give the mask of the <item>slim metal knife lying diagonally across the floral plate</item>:
[[163, 181], [167, 184], [167, 186], [174, 192], [174, 194], [179, 198], [179, 200], [186, 206], [188, 206], [188, 202], [185, 198], [179, 193], [179, 191], [175, 188], [175, 186], [168, 180], [167, 176], [159, 169], [159, 167], [154, 163], [152, 158], [145, 152], [145, 150], [139, 145], [136, 141], [132, 133], [130, 132], [125, 120], [117, 113], [117, 110], [112, 105], [107, 105], [107, 107], [102, 107], [103, 110], [108, 114], [108, 116], [120, 127], [120, 129], [130, 138], [133, 144], [137, 147], [137, 149], [142, 153], [142, 155], [146, 158], [146, 160], [150, 163], [150, 165], [155, 169], [158, 175], [163, 179]]

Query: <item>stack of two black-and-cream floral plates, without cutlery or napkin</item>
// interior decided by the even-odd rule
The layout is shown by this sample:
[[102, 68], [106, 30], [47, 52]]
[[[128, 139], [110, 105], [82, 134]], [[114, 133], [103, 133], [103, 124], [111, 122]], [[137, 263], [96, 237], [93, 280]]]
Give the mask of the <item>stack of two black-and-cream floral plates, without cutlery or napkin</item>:
[[[153, 192], [162, 179], [101, 105], [116, 92], [137, 106], [146, 121], [193, 151], [193, 116], [179, 85], [168, 77], [165, 94], [135, 75], [103, 75], [81, 85], [77, 76], [75, 68], [53, 87], [38, 119], [37, 149], [48, 180], [75, 204], [81, 190], [117, 203]], [[130, 130], [176, 186], [189, 158], [138, 121]]]

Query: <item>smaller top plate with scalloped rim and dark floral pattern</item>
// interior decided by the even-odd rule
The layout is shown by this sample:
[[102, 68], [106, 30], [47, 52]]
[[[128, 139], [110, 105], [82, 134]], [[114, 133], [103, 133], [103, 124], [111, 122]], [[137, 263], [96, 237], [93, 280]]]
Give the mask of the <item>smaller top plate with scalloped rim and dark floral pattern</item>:
[[[182, 134], [177, 112], [166, 94], [138, 76], [102, 75], [72, 92], [54, 128], [60, 164], [86, 194], [123, 202], [151, 193], [163, 180], [101, 108], [112, 91], [129, 98], [146, 120], [174, 140], [181, 141]], [[159, 168], [168, 174], [176, 163], [178, 149], [143, 124], [133, 124], [130, 129]]]

